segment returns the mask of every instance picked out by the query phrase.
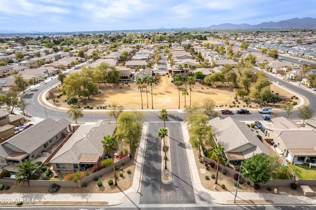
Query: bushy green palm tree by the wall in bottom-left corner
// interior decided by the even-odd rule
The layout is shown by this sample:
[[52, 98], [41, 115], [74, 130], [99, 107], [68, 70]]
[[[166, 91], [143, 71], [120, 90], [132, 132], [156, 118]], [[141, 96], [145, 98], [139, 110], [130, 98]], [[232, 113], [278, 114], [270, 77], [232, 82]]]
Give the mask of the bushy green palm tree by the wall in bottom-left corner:
[[30, 180], [37, 179], [42, 173], [39, 164], [35, 163], [34, 159], [24, 160], [14, 170], [16, 171], [15, 184], [19, 184], [19, 186], [21, 183], [24, 184], [25, 181], [30, 186]]

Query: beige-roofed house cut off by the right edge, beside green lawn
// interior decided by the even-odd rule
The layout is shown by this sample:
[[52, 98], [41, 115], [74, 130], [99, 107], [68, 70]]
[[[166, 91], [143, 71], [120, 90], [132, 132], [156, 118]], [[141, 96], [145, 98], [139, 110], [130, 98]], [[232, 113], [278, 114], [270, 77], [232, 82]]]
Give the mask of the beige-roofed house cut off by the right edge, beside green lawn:
[[265, 127], [265, 140], [277, 153], [290, 163], [312, 162], [316, 166], [316, 131], [284, 117], [271, 120], [273, 124]]

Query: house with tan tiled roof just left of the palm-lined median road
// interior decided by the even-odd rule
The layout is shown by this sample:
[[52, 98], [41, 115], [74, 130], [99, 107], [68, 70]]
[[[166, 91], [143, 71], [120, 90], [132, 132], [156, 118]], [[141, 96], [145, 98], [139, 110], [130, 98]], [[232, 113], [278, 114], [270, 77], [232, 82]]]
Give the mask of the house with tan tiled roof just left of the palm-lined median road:
[[110, 120], [98, 120], [94, 125], [80, 125], [77, 131], [49, 161], [56, 171], [85, 170], [103, 160], [101, 140], [112, 136], [117, 127]]

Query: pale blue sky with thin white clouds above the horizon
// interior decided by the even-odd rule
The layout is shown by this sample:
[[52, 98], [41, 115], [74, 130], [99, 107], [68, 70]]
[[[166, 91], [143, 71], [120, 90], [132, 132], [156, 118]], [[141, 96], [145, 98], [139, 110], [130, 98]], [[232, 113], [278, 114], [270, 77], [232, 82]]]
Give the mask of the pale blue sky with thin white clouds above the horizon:
[[316, 0], [0, 0], [0, 30], [78, 32], [316, 18]]

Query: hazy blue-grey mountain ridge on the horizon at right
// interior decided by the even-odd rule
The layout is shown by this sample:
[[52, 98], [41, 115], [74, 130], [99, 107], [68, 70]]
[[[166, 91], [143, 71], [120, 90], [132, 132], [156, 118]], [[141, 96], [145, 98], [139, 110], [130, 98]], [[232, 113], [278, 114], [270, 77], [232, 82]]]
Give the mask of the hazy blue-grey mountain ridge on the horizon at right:
[[206, 27], [207, 29], [292, 29], [316, 28], [316, 18], [292, 18], [279, 22], [263, 22], [258, 25], [224, 23]]

